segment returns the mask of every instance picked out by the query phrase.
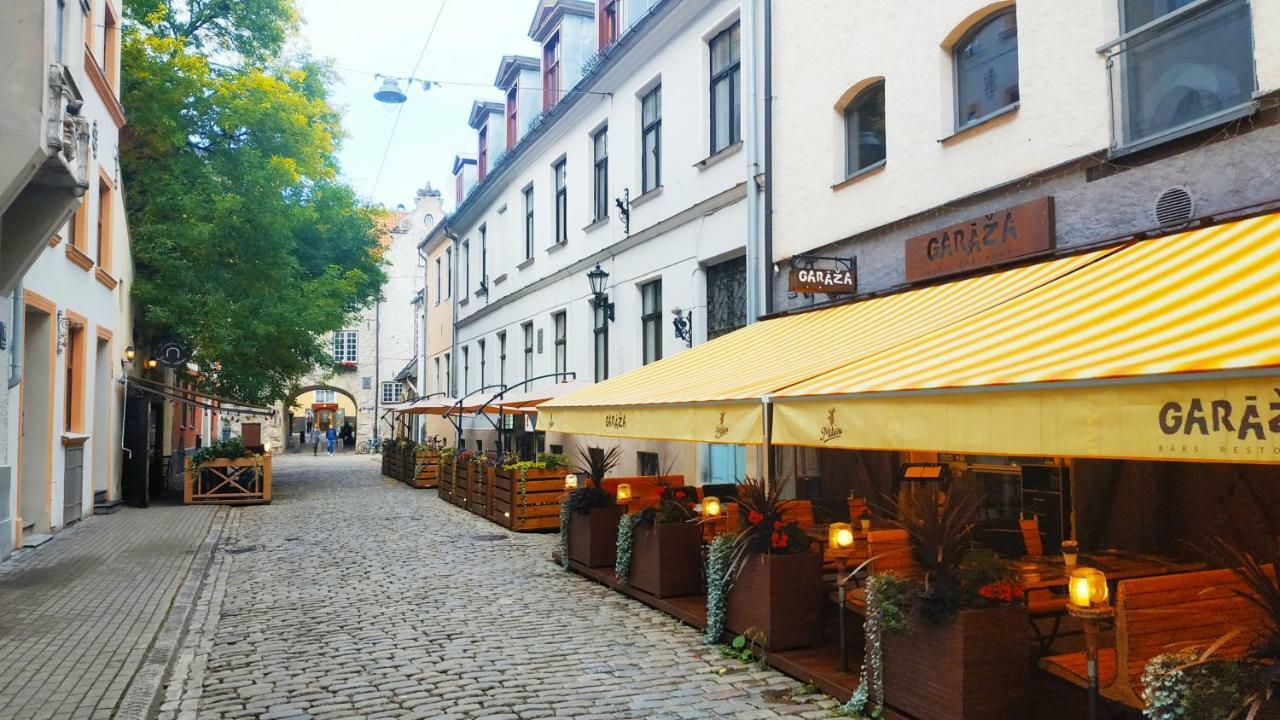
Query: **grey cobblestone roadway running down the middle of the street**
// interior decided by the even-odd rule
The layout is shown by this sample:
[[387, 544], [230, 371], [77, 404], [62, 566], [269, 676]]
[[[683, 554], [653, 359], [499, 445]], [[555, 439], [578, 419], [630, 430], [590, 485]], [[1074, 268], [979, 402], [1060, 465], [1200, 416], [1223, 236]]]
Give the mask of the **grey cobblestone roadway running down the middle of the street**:
[[[365, 456], [232, 511], [161, 719], [833, 717], [835, 701], [550, 562]], [[724, 674], [721, 674], [724, 670]]]

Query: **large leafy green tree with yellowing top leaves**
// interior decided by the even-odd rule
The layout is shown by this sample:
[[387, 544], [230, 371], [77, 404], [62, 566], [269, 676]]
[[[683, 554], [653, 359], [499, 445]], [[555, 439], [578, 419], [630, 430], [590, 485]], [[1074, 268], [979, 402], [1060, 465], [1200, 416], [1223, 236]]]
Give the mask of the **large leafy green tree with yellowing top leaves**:
[[379, 211], [338, 181], [326, 65], [285, 56], [292, 0], [125, 0], [120, 159], [140, 340], [204, 387], [288, 397], [385, 281]]

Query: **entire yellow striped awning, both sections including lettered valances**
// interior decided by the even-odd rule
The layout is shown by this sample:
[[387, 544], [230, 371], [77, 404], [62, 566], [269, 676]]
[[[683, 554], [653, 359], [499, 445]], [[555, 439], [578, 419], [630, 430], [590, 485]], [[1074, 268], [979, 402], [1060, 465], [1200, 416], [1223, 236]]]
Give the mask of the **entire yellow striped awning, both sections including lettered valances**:
[[543, 405], [696, 442], [1280, 461], [1280, 215], [767, 320]]

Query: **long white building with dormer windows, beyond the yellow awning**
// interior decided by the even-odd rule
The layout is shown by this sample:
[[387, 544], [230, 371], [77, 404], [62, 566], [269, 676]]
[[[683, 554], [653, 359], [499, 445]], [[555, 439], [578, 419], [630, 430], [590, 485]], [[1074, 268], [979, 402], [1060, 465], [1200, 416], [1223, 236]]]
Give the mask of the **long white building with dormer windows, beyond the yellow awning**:
[[[744, 27], [733, 0], [536, 5], [541, 56], [504, 58], [502, 100], [474, 106], [479, 183], [448, 223], [458, 397], [526, 379], [511, 392], [554, 395], [748, 323]], [[535, 416], [504, 424], [466, 420], [467, 448], [616, 443], [544, 433]], [[741, 478], [745, 448], [623, 443], [618, 474], [668, 468]]]

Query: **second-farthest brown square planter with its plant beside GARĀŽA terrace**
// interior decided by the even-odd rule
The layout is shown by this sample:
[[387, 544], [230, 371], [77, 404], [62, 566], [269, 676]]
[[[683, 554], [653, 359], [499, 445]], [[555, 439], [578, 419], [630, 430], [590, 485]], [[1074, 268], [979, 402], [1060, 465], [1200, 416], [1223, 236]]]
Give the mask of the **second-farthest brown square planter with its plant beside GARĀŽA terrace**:
[[703, 592], [703, 528], [685, 487], [659, 484], [657, 507], [626, 515], [618, 523], [618, 582], [654, 597]]

